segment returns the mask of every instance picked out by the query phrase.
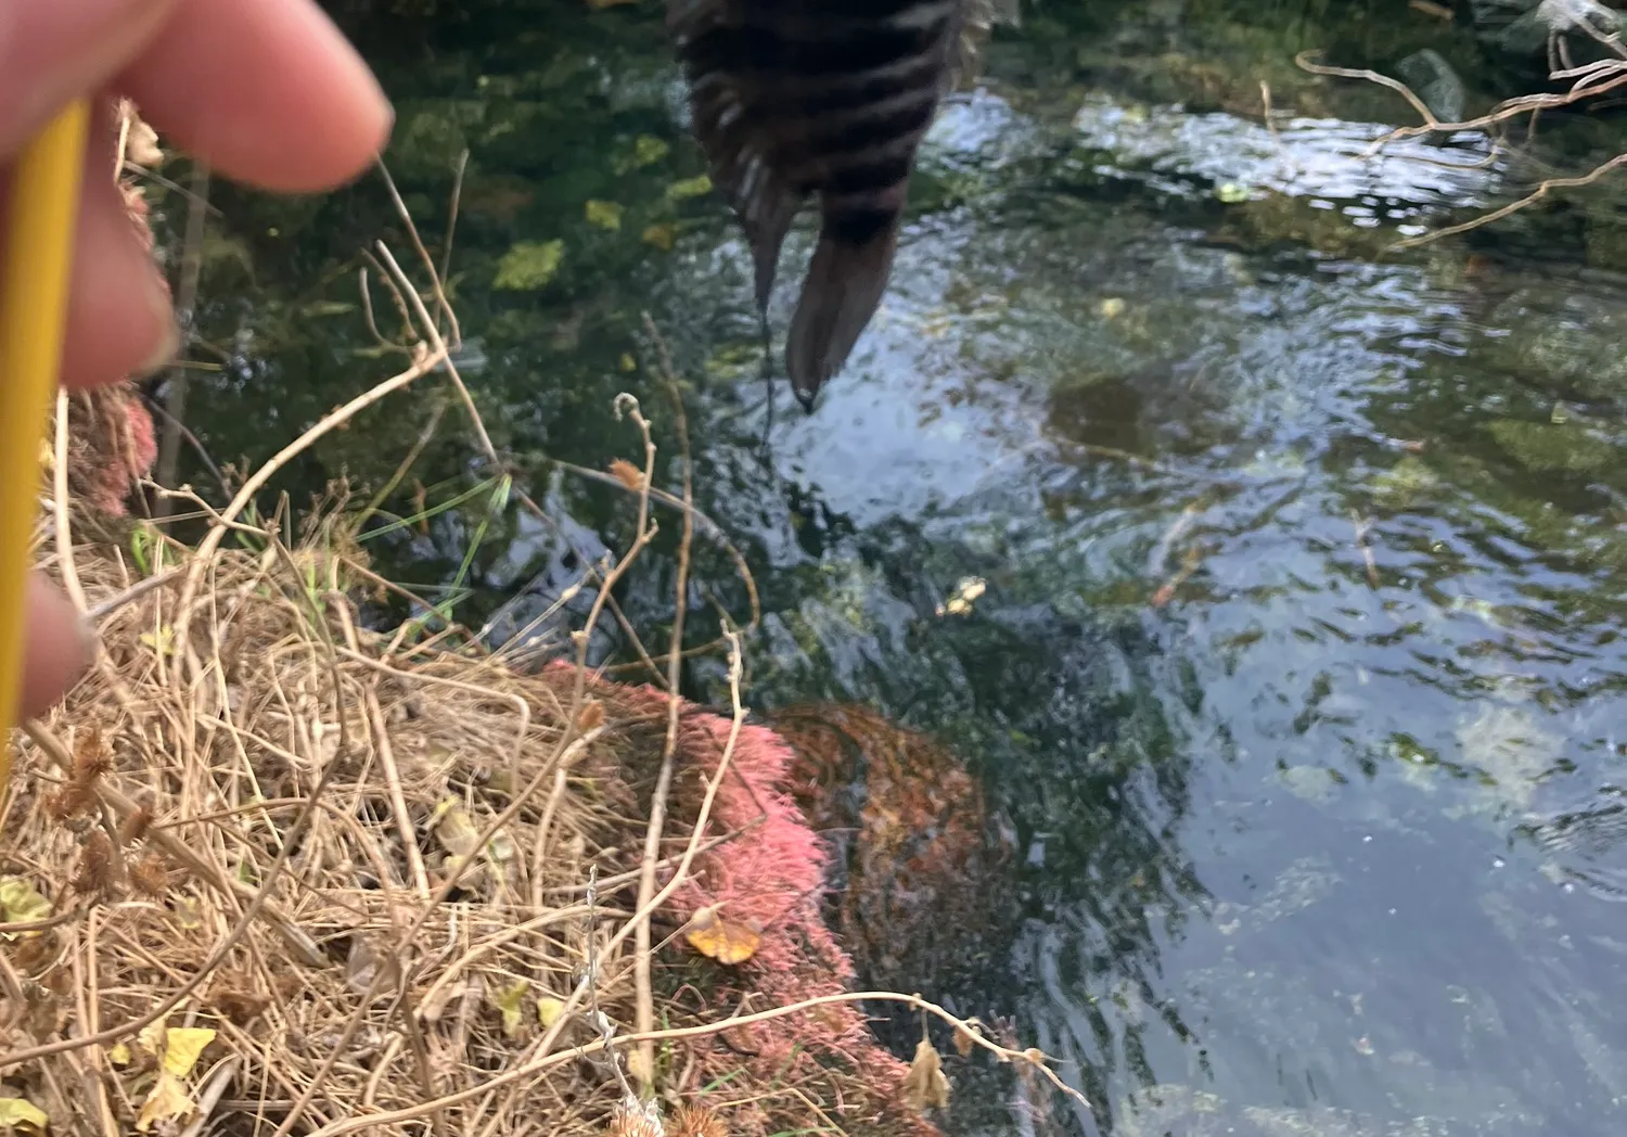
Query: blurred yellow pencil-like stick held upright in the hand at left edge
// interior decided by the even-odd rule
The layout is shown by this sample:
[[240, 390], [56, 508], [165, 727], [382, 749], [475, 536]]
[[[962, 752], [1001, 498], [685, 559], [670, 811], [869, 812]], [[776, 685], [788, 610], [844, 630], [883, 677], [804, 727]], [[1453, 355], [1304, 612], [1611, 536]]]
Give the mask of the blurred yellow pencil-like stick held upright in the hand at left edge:
[[39, 452], [62, 366], [73, 221], [89, 102], [63, 111], [21, 153], [0, 265], [0, 799], [23, 691], [24, 599], [37, 519]]

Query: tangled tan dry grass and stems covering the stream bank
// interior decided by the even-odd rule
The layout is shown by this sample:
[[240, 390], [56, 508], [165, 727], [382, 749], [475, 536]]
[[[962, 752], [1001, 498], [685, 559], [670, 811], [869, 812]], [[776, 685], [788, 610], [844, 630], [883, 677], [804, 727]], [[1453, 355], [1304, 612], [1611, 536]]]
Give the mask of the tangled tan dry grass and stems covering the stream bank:
[[748, 969], [721, 976], [672, 947], [680, 890], [753, 839], [755, 821], [721, 831], [713, 805], [745, 729], [757, 592], [688, 480], [682, 496], [652, 486], [636, 400], [617, 410], [643, 470], [579, 470], [636, 498], [635, 538], [571, 592], [592, 590], [582, 626], [608, 615], [631, 636], [612, 589], [654, 512], [677, 511], [685, 563], [691, 537], [716, 542], [752, 600], [744, 626], [721, 616], [700, 649], [727, 654], [732, 712], [678, 699], [677, 662], [696, 649], [677, 636], [659, 656], [631, 636], [656, 685], [635, 690], [589, 672], [582, 633], [547, 644], [555, 665], [539, 667], [534, 644], [490, 652], [456, 625], [369, 629], [360, 602], [402, 594], [351, 540], [371, 511], [338, 488], [304, 517], [286, 501], [255, 512], [286, 462], [430, 376], [451, 384], [491, 468], [508, 468], [449, 361], [457, 324], [415, 231], [413, 244], [426, 290], [389, 249], [373, 257], [402, 317], [403, 371], [293, 439], [226, 506], [148, 486], [166, 524], [203, 522], [192, 547], [151, 525], [111, 537], [75, 499], [96, 483], [86, 464], [124, 462], [127, 447], [117, 429], [86, 442], [101, 412], [59, 400], [39, 563], [98, 621], [103, 652], [28, 725], [0, 802], [0, 1126], [28, 1127], [37, 1108], [55, 1132], [101, 1137], [919, 1132], [898, 1113], [901, 1085], [853, 1113], [875, 1096], [875, 1064], [867, 1083], [840, 1046], [797, 1078], [716, 1077], [726, 1033], [823, 1022], [857, 1000], [918, 1007], [1072, 1093], [1038, 1051], [919, 995], [831, 991], [825, 974], [805, 989], [818, 994], [747, 1005], [722, 995], [750, 991]]

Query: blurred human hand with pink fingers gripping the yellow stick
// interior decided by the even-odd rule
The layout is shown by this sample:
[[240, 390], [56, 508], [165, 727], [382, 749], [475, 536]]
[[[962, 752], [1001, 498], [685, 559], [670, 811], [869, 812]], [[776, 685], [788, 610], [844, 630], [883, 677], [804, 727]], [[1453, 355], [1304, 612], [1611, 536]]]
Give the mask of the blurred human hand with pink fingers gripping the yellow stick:
[[[104, 96], [75, 236], [70, 389], [151, 371], [176, 351], [169, 294], [112, 179], [114, 94], [226, 177], [285, 192], [351, 181], [392, 120], [314, 0], [0, 0], [0, 187], [63, 106]], [[46, 711], [88, 667], [94, 636], [81, 628], [65, 597], [29, 581], [23, 714]]]

